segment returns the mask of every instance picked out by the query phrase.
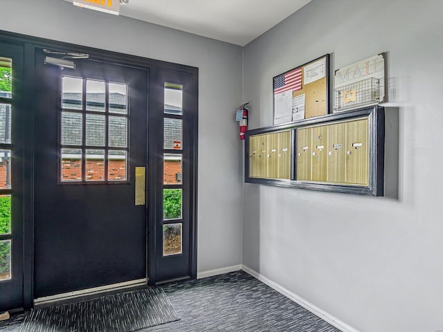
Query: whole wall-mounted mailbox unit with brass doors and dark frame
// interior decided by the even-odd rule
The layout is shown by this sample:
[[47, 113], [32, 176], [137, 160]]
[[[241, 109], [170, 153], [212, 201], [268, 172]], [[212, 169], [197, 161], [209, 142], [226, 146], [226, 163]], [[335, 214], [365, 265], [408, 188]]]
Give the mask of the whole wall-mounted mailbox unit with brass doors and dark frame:
[[384, 109], [246, 131], [245, 181], [383, 196]]

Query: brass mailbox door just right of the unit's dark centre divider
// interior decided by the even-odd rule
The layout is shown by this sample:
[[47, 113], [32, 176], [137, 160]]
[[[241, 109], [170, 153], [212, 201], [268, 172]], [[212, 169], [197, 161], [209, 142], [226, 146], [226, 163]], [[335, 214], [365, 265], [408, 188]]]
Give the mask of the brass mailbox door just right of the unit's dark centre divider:
[[312, 129], [296, 130], [296, 179], [311, 181]]

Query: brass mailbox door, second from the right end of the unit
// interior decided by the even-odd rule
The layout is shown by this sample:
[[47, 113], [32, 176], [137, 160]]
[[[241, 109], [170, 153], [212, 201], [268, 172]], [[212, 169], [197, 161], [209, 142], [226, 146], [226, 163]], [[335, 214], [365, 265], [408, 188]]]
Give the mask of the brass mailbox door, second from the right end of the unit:
[[345, 183], [346, 123], [327, 126], [327, 182]]

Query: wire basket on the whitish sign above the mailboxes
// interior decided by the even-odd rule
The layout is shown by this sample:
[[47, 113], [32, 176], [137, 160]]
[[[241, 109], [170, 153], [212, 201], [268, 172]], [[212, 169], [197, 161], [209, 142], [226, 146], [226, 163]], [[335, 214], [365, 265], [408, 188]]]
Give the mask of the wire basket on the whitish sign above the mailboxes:
[[367, 78], [334, 89], [334, 112], [347, 111], [380, 102], [380, 80]]

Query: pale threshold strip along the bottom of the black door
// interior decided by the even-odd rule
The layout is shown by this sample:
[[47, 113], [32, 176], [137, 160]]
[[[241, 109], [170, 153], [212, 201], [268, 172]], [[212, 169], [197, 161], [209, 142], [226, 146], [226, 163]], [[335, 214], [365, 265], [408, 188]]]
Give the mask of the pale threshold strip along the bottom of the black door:
[[74, 292], [62, 293], [57, 295], [39, 297], [38, 299], [34, 300], [34, 304], [46, 304], [49, 302], [61, 301], [64, 299], [73, 299], [75, 297], [80, 297], [84, 295], [94, 295], [94, 294], [104, 293], [105, 291], [115, 291], [134, 286], [144, 286], [146, 284], [147, 284], [146, 278], [132, 280], [130, 282], [119, 282], [118, 284], [87, 288], [87, 289], [82, 289], [81, 291], [74, 291]]

